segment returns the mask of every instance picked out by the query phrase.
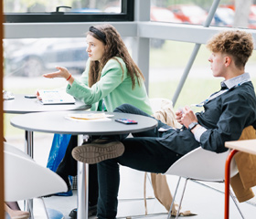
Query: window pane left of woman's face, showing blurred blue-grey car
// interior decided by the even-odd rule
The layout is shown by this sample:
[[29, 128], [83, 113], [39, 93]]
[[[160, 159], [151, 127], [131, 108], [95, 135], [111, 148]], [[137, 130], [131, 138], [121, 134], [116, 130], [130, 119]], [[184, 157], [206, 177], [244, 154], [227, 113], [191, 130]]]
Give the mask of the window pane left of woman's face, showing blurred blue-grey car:
[[5, 77], [37, 77], [56, 66], [81, 73], [88, 59], [85, 37], [5, 39]]

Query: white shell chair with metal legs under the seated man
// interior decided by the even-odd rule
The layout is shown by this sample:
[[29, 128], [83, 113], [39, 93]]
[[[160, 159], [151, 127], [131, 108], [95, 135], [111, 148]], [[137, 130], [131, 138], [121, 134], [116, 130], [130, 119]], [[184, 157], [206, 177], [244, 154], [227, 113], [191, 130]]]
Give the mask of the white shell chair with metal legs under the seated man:
[[[179, 179], [176, 185], [176, 192], [177, 192], [181, 177], [186, 179], [182, 196], [180, 198], [180, 203], [178, 204], [176, 218], [178, 218], [180, 206], [181, 206], [186, 185], [187, 185], [187, 180], [224, 183], [225, 162], [228, 154], [229, 154], [229, 151], [226, 151], [223, 153], [216, 153], [213, 151], [204, 150], [201, 147], [199, 147], [194, 151], [190, 151], [189, 153], [184, 155], [181, 159], [176, 161], [168, 169], [167, 172], [165, 172], [166, 175], [179, 176]], [[237, 172], [238, 172], [238, 169], [233, 160], [230, 165], [230, 176], [231, 177], [234, 176], [235, 174], [237, 174]], [[167, 219], [169, 219], [171, 216], [171, 209], [176, 198], [176, 192], [174, 194], [173, 203], [171, 205]], [[240, 212], [240, 208], [236, 203], [234, 195], [230, 193], [230, 196], [233, 199], [234, 203], [236, 204]], [[241, 217], [244, 218], [242, 214], [241, 214]]]

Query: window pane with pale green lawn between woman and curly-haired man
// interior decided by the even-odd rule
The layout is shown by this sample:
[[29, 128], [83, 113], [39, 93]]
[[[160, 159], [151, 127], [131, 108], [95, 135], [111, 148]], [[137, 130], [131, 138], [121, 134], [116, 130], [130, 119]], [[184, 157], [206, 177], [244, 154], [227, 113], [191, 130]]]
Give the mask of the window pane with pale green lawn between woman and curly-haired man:
[[[188, 59], [195, 44], [165, 40], [161, 48], [151, 47], [149, 72], [149, 97], [172, 99], [177, 85], [182, 78]], [[187, 81], [176, 101], [175, 110], [181, 106], [189, 106], [206, 99], [219, 90], [219, 82], [223, 78], [214, 78], [209, 66], [210, 52], [205, 45], [198, 51], [196, 60], [190, 69]], [[251, 75], [256, 86], [256, 51], [250, 57], [245, 71]], [[195, 110], [195, 109], [193, 109]], [[196, 110], [202, 110], [200, 108]]]

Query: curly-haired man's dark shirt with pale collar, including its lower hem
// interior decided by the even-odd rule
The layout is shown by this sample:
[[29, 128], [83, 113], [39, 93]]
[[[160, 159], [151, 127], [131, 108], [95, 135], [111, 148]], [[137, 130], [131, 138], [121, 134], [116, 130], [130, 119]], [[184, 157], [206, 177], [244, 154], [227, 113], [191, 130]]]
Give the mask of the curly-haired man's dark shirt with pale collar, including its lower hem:
[[196, 113], [198, 123], [205, 128], [199, 142], [185, 127], [168, 130], [157, 141], [179, 154], [199, 146], [208, 151], [227, 151], [225, 141], [238, 140], [242, 130], [250, 125], [256, 129], [256, 97], [250, 77], [244, 79], [248, 77], [245, 73], [242, 77], [232, 78], [231, 83], [222, 82], [221, 89], [226, 91], [208, 100], [204, 110]]

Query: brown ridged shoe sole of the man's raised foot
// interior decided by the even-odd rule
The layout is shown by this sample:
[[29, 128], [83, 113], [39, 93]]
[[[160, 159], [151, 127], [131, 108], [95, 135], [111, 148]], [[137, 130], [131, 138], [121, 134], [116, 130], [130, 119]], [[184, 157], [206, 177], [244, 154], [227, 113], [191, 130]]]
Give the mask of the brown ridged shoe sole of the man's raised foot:
[[99, 140], [75, 147], [72, 156], [79, 162], [92, 164], [119, 157], [123, 151], [124, 146], [120, 141]]

